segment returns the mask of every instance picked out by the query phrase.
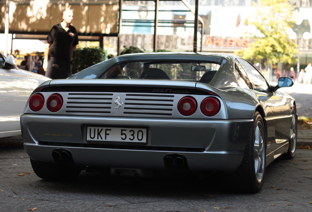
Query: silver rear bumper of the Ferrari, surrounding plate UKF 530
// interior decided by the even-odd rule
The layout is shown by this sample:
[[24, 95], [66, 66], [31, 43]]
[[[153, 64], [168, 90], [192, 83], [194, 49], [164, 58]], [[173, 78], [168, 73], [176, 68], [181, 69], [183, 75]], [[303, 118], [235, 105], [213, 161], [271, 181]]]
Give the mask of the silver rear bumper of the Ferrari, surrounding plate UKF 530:
[[[243, 158], [253, 120], [184, 120], [85, 116], [21, 116], [25, 150], [34, 160], [54, 162], [68, 150], [82, 166], [166, 169], [167, 155], [181, 155], [190, 170], [234, 171]], [[86, 126], [145, 127], [145, 145], [90, 144]]]

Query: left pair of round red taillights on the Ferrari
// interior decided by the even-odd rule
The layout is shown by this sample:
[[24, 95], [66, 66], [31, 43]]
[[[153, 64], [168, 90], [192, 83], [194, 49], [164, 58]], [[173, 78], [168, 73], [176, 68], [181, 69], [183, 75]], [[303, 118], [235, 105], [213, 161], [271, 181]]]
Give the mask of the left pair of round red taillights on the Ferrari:
[[[45, 104], [44, 96], [40, 93], [36, 93], [32, 95], [29, 99], [29, 108], [32, 111], [37, 112], [41, 110], [44, 104]], [[48, 110], [50, 110], [51, 112], [57, 112], [63, 106], [63, 98], [59, 94], [52, 94], [47, 99], [46, 104], [47, 104]]]

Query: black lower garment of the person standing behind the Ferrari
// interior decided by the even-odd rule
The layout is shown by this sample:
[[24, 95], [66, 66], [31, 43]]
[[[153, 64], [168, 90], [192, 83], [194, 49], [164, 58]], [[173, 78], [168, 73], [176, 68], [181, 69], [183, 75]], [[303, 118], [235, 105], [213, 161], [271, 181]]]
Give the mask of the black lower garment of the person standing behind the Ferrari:
[[49, 57], [46, 77], [51, 79], [66, 79], [70, 76], [72, 76], [71, 61]]

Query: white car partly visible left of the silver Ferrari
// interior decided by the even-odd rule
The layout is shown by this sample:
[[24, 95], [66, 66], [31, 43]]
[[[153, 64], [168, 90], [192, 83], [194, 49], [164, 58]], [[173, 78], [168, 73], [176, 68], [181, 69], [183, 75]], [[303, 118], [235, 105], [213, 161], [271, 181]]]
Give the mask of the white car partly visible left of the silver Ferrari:
[[45, 76], [17, 68], [13, 55], [0, 53], [0, 138], [21, 135], [20, 116]]

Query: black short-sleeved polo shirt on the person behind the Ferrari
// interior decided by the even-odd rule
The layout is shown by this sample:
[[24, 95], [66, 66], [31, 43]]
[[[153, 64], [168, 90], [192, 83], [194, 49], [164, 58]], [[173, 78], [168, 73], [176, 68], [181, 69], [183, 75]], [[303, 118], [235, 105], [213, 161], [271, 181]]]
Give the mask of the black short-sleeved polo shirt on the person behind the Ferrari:
[[51, 43], [49, 57], [72, 60], [73, 46], [79, 42], [76, 28], [70, 25], [65, 31], [61, 23], [54, 25], [48, 34], [47, 42]]

